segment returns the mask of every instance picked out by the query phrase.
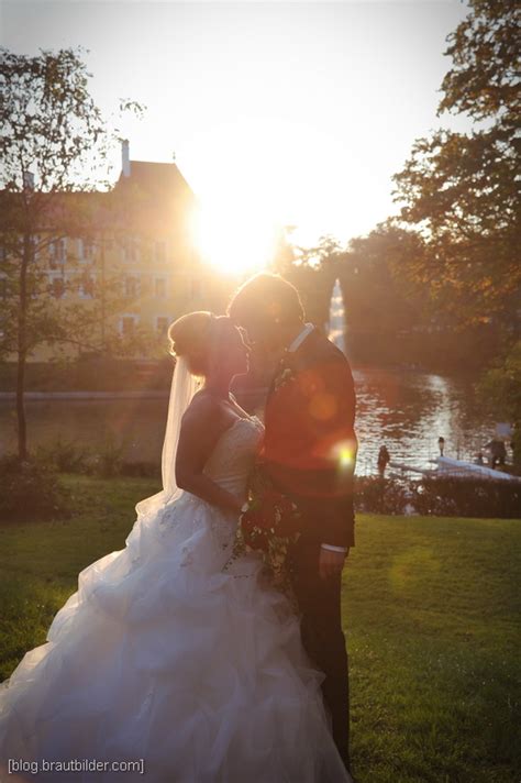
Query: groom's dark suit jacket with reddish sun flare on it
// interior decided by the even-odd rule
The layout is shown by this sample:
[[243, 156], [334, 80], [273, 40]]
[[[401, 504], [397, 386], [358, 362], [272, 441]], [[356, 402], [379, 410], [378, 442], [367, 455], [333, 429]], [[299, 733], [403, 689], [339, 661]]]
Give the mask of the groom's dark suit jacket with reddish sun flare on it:
[[350, 363], [318, 329], [285, 353], [266, 400], [263, 457], [299, 507], [306, 539], [355, 544], [355, 406]]

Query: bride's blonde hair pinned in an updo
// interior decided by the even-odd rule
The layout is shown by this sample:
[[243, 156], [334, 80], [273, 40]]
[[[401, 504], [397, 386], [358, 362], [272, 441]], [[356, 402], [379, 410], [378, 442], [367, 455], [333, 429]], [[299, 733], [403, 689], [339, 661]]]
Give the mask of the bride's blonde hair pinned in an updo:
[[185, 356], [192, 375], [203, 376], [210, 366], [210, 355], [218, 318], [208, 310], [181, 316], [168, 327], [170, 353]]

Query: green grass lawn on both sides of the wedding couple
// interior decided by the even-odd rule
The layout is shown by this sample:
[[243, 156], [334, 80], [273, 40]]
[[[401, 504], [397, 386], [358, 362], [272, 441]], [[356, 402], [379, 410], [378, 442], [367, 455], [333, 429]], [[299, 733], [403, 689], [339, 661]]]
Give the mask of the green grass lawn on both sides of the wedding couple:
[[[157, 490], [64, 481], [71, 519], [0, 528], [0, 680]], [[356, 525], [343, 613], [357, 783], [519, 781], [521, 520], [359, 514]]]

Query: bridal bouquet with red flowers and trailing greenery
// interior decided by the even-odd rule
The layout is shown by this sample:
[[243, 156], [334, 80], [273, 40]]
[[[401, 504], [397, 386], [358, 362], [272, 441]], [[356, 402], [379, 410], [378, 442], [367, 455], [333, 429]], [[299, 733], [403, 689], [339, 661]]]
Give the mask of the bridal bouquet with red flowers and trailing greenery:
[[273, 584], [291, 599], [287, 555], [288, 547], [300, 536], [300, 516], [296, 504], [274, 487], [262, 462], [257, 463], [239, 518], [232, 556], [260, 551]]

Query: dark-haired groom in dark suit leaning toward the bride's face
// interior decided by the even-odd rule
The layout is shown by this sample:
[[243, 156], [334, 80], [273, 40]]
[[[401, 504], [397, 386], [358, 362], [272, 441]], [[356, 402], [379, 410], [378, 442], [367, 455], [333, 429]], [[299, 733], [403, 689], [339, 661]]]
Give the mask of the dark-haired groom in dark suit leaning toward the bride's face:
[[355, 393], [345, 355], [304, 323], [297, 289], [277, 275], [247, 280], [229, 316], [251, 343], [284, 351], [265, 409], [264, 460], [273, 483], [301, 512], [290, 552], [302, 643], [325, 673], [324, 702], [350, 769], [347, 652], [341, 621], [342, 570], [354, 547]]

